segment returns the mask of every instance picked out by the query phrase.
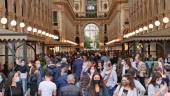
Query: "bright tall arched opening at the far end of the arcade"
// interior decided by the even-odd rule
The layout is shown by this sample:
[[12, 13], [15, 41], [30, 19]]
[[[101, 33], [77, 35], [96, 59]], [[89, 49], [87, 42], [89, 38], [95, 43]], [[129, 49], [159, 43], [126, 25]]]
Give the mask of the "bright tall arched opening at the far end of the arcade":
[[99, 27], [96, 24], [87, 24], [84, 28], [84, 48], [99, 48]]

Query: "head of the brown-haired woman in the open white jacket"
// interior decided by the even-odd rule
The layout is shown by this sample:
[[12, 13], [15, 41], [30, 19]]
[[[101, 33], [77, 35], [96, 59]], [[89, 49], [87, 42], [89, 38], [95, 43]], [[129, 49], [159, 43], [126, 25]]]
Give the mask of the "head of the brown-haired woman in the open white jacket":
[[130, 74], [126, 74], [122, 78], [122, 86], [130, 87], [131, 89], [135, 88], [133, 77]]

